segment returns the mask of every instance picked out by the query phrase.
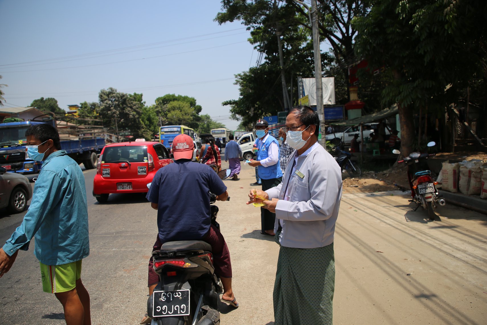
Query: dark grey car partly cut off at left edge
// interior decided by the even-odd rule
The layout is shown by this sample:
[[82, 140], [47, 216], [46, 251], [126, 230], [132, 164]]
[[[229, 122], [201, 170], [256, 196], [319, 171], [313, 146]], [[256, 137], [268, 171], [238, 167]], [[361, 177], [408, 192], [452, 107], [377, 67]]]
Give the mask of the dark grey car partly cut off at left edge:
[[11, 213], [22, 212], [31, 196], [32, 187], [27, 177], [0, 167], [0, 209], [7, 208]]

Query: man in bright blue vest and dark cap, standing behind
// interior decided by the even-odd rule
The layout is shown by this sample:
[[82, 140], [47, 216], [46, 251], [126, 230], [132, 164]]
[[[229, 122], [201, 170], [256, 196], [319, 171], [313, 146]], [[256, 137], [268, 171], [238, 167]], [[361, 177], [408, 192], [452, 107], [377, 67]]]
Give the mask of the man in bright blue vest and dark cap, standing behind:
[[[282, 172], [279, 164], [279, 142], [269, 134], [269, 123], [259, 119], [255, 123], [255, 134], [259, 138], [257, 159], [250, 161], [252, 167], [258, 166], [259, 177], [262, 181], [262, 191], [266, 191], [281, 184]], [[276, 213], [261, 208], [261, 233], [274, 236], [274, 222]]]

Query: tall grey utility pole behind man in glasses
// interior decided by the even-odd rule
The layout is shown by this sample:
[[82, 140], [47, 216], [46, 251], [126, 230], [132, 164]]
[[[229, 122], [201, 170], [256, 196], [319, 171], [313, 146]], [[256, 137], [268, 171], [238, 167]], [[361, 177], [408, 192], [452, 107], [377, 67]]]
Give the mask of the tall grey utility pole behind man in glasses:
[[[316, 111], [319, 117], [318, 132], [321, 133], [319, 144], [325, 146], [325, 115], [323, 111], [323, 85], [321, 83], [321, 52], [319, 50], [318, 32], [318, 6], [316, 0], [311, 0], [311, 26], [313, 28], [313, 51], [315, 52], [315, 79], [316, 79]], [[319, 138], [319, 136], [318, 136]]]

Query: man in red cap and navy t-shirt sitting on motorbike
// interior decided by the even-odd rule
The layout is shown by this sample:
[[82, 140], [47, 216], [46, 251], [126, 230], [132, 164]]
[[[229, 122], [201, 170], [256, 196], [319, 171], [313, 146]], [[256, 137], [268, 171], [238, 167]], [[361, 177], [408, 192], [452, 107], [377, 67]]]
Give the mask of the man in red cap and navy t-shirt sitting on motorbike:
[[[222, 233], [211, 224], [208, 194], [215, 193], [217, 200], [225, 201], [228, 192], [211, 167], [191, 161], [193, 149], [194, 142], [190, 136], [176, 136], [172, 142], [174, 164], [159, 169], [150, 185], [146, 197], [151, 202], [151, 207], [157, 210], [159, 229], [153, 250], [159, 250], [163, 243], [170, 241], [201, 240], [210, 244], [215, 273], [220, 277], [224, 289], [222, 300], [238, 307], [232, 291], [230, 253]], [[159, 282], [152, 264], [153, 260], [150, 258], [149, 295]], [[148, 317], [144, 320], [150, 323]]]

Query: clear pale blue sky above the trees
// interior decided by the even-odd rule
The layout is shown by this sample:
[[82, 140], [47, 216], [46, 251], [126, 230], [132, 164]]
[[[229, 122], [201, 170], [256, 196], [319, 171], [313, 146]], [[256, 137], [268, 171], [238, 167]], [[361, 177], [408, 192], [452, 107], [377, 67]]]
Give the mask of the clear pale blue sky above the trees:
[[235, 130], [221, 103], [238, 98], [234, 75], [258, 56], [240, 22], [213, 21], [219, 11], [219, 0], [0, 0], [6, 105], [43, 96], [67, 109], [108, 87], [142, 93], [147, 105], [178, 94]]

